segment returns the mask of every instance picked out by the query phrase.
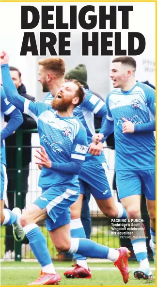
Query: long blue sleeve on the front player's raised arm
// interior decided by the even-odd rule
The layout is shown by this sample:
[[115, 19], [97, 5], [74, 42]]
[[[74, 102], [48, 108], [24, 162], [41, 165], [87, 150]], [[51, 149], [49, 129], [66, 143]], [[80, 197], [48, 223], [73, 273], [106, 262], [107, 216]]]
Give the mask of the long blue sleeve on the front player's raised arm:
[[37, 121], [37, 117], [46, 110], [50, 109], [50, 105], [44, 102], [30, 101], [18, 94], [16, 86], [11, 78], [9, 65], [1, 65], [2, 82], [7, 100], [12, 103], [18, 110], [31, 116]]

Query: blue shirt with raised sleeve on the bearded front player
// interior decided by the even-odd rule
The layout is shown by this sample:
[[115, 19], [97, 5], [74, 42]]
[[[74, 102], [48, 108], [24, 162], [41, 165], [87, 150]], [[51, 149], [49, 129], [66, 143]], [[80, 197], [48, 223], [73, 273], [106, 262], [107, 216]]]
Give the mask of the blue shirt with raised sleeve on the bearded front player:
[[78, 172], [88, 143], [86, 130], [78, 117], [60, 117], [49, 104], [20, 96], [10, 77], [8, 65], [2, 65], [2, 79], [8, 100], [36, 121], [40, 144], [52, 161], [51, 169], [42, 168], [39, 186], [47, 189], [63, 185], [79, 191]]

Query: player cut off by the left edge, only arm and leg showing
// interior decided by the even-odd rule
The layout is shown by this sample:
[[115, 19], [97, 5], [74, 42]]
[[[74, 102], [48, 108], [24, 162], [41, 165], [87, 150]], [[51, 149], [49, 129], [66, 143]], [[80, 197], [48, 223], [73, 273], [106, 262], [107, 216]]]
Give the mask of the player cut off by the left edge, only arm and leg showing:
[[[4, 114], [10, 117], [6, 127], [4, 127]], [[14, 224], [19, 239], [23, 239], [24, 236], [21, 225], [18, 222], [18, 217], [11, 210], [4, 208], [8, 183], [6, 174], [5, 139], [22, 123], [23, 117], [21, 112], [7, 100], [4, 89], [0, 86], [0, 225]]]

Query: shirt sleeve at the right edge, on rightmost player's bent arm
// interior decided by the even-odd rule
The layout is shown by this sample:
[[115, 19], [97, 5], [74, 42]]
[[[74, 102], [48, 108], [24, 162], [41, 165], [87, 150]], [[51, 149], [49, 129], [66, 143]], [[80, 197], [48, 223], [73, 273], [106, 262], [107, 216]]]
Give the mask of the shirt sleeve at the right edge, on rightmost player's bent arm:
[[155, 131], [156, 130], [156, 92], [153, 88], [149, 87], [147, 90], [147, 98], [146, 104], [150, 111], [150, 122], [143, 123], [141, 125], [135, 125], [134, 132], [148, 132], [148, 131]]

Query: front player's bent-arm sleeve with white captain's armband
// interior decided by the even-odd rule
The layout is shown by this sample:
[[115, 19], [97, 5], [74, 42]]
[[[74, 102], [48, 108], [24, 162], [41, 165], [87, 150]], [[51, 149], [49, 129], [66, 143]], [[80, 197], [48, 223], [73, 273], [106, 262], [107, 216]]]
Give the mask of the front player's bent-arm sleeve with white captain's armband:
[[62, 171], [65, 174], [78, 175], [88, 151], [87, 133], [80, 127], [73, 142], [71, 160], [67, 163], [52, 162], [52, 170]]

